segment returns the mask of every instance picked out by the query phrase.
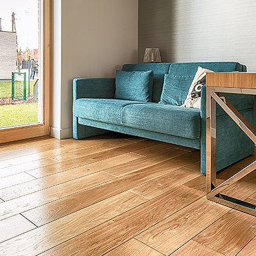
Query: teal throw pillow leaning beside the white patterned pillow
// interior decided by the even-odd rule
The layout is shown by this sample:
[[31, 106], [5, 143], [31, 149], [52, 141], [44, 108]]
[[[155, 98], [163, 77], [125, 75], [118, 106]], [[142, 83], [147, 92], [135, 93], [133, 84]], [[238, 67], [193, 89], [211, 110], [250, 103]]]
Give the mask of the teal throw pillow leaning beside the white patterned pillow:
[[194, 76], [164, 75], [160, 104], [182, 105], [188, 95]]

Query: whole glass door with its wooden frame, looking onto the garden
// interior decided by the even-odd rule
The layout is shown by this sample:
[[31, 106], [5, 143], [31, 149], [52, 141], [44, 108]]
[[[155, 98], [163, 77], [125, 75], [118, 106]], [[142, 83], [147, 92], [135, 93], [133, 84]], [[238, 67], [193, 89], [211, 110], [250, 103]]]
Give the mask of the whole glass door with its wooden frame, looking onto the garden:
[[50, 0], [0, 0], [0, 143], [48, 135]]

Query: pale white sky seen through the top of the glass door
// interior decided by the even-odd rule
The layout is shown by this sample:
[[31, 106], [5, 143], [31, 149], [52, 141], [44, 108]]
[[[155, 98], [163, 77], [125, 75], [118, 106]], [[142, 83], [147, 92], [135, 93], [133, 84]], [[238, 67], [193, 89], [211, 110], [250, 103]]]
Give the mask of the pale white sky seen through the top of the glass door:
[[38, 48], [38, 0], [0, 0], [2, 31], [11, 31], [15, 13], [18, 46], [21, 50]]

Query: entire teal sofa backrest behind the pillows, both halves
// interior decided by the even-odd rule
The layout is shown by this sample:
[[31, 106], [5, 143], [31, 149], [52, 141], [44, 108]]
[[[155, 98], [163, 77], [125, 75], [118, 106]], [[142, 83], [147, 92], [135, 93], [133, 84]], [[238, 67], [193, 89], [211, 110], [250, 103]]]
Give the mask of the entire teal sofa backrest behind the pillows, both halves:
[[[164, 74], [176, 76], [193, 76], [196, 74], [198, 66], [207, 68], [214, 72], [245, 72], [246, 66], [238, 62], [174, 62], [174, 63], [143, 63], [124, 64], [124, 71], [154, 71], [153, 101], [159, 102], [162, 94]], [[190, 84], [188, 85], [189, 88]]]

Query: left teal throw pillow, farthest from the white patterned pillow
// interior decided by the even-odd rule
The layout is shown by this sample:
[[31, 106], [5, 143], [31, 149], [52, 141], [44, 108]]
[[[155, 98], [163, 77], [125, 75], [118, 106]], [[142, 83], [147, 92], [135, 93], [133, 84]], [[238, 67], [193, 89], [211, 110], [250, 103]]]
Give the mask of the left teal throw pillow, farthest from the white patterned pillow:
[[121, 71], [115, 76], [115, 98], [134, 101], [152, 101], [153, 70]]

